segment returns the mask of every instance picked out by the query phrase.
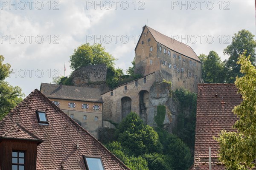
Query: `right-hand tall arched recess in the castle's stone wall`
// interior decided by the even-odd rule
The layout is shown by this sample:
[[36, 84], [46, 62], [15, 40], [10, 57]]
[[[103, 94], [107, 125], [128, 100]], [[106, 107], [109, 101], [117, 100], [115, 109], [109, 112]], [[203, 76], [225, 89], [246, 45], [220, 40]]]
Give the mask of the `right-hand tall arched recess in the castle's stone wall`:
[[146, 90], [139, 92], [139, 104], [140, 104], [140, 118], [145, 124], [148, 121], [148, 105], [149, 105], [149, 93]]

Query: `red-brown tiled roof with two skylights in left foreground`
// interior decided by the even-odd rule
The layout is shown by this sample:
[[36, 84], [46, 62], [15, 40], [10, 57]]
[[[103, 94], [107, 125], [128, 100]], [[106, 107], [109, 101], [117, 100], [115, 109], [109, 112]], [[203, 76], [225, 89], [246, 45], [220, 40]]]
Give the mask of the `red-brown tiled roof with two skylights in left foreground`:
[[[49, 125], [38, 123], [36, 110], [46, 111]], [[37, 170], [60, 169], [61, 161], [64, 161], [64, 169], [86, 170], [83, 155], [102, 157], [105, 170], [129, 170], [87, 130], [37, 89], [0, 121], [0, 136], [14, 135], [16, 138], [23, 138], [25, 132], [12, 133], [19, 126], [14, 126], [16, 122], [20, 128], [24, 127], [44, 140], [38, 145]], [[77, 142], [79, 148], [76, 147]]]

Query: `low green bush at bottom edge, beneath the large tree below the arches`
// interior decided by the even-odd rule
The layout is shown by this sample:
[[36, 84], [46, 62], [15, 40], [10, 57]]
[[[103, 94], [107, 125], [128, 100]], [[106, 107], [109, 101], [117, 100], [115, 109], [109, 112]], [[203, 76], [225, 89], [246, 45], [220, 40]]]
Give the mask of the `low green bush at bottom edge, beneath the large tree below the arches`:
[[143, 155], [148, 162], [149, 170], [173, 170], [172, 166], [166, 162], [166, 156], [159, 153], [148, 153]]

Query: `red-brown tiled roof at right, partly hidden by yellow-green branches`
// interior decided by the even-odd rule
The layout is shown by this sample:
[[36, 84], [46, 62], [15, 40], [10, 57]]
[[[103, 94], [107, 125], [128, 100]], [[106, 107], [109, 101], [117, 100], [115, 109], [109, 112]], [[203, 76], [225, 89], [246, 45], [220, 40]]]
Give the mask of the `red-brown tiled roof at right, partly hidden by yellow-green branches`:
[[[204, 165], [209, 158], [209, 147], [211, 147], [211, 157], [217, 160], [219, 146], [213, 136], [217, 137], [221, 130], [233, 130], [232, 126], [238, 118], [233, 114], [232, 109], [242, 101], [241, 94], [237, 94], [237, 91], [234, 84], [198, 84], [195, 170], [206, 170], [207, 166], [209, 169], [209, 163]], [[219, 165], [215, 166], [215, 169], [224, 170], [225, 167]]]

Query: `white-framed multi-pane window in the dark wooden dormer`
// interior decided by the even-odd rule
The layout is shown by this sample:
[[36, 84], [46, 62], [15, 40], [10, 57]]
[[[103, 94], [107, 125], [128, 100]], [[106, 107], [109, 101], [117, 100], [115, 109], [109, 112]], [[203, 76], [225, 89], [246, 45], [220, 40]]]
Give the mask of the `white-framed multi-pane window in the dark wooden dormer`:
[[12, 170], [25, 170], [24, 151], [12, 151]]

